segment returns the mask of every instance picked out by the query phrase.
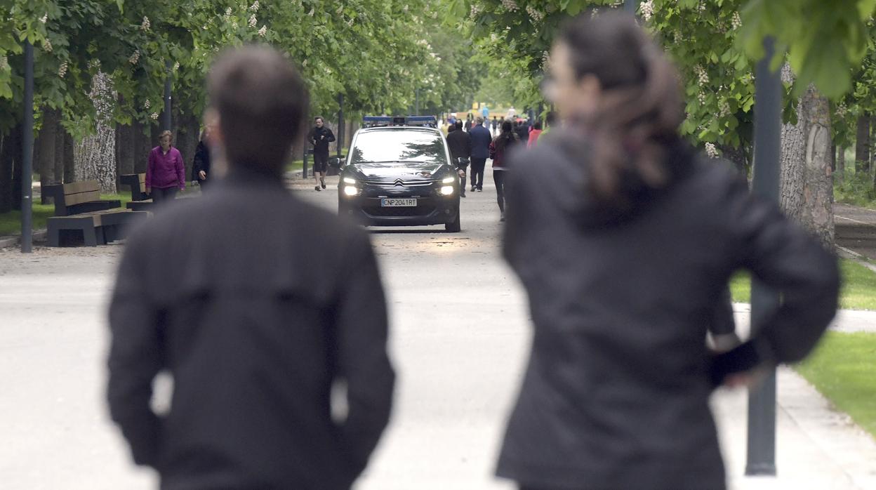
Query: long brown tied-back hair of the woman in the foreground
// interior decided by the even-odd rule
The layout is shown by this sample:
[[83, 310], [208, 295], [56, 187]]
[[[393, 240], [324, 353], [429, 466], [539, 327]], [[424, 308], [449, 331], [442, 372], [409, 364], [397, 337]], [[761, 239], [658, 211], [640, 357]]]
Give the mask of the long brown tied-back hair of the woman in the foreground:
[[[603, 89], [602, 110], [583, 122], [592, 147], [590, 191], [599, 201], [625, 207], [632, 192], [666, 186], [672, 174], [667, 152], [680, 140], [683, 118], [675, 67], [625, 13], [571, 19], [559, 42], [569, 47], [576, 77], [593, 75]], [[564, 138], [563, 144], [586, 154], [580, 153], [582, 139]]]

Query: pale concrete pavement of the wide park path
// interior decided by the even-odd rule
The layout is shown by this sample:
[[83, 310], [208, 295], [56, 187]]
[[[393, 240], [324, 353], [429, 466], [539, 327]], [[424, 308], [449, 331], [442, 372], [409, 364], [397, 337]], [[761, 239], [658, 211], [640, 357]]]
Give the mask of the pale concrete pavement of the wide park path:
[[[499, 256], [495, 191], [463, 200], [463, 232], [378, 230], [399, 386], [357, 490], [511, 489], [491, 477], [530, 342], [526, 297]], [[329, 191], [296, 186], [332, 209]], [[306, 238], [302, 238], [306, 239]], [[145, 489], [103, 403], [105, 304], [118, 245], [0, 252], [0, 487]], [[740, 324], [746, 306], [737, 305]], [[843, 313], [838, 330], [867, 330]], [[779, 477], [745, 478], [745, 392], [718, 391], [734, 489], [876, 488], [876, 443], [790, 370], [779, 374]]]

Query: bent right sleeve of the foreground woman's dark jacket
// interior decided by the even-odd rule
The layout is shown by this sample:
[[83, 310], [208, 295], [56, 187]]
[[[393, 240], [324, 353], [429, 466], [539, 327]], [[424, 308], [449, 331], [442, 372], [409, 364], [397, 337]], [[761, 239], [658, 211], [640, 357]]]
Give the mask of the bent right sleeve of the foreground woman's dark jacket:
[[775, 362], [799, 361], [837, 313], [837, 258], [773, 203], [751, 195], [743, 179], [731, 188], [729, 210], [737, 266], [781, 295], [773, 309], [752, 318], [753, 340]]

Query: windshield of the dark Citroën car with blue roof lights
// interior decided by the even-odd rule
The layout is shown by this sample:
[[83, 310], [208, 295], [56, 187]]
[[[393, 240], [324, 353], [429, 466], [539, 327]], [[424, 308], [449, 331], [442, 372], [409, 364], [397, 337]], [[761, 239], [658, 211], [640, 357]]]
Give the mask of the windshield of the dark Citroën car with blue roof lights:
[[360, 133], [350, 163], [446, 164], [444, 138], [433, 131], [381, 130]]

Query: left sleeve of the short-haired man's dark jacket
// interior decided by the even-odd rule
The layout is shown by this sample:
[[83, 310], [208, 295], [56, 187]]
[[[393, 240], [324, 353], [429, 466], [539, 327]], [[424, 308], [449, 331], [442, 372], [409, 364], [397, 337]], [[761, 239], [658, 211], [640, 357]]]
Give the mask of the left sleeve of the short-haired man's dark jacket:
[[159, 417], [152, 412], [152, 380], [163, 365], [161, 315], [144, 286], [148, 253], [132, 236], [109, 304], [109, 415], [131, 445], [134, 462], [156, 465]]

